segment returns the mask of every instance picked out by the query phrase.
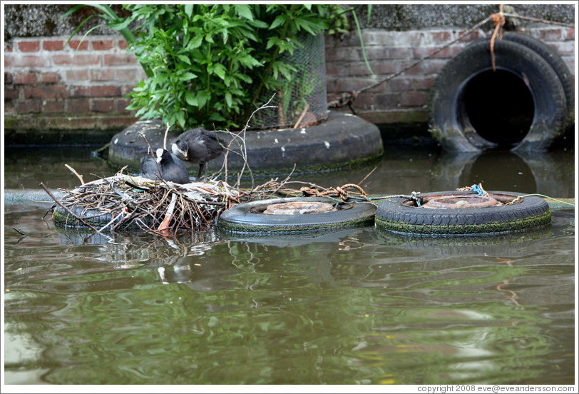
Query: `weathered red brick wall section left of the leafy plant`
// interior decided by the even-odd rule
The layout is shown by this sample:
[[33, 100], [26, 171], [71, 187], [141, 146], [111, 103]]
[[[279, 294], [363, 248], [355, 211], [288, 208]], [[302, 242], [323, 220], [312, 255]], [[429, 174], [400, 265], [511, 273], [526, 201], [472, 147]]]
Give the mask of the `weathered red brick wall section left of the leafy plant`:
[[5, 49], [7, 128], [106, 130], [135, 121], [125, 110], [125, 96], [145, 73], [135, 56], [126, 54], [126, 41], [121, 36], [67, 40], [16, 38]]

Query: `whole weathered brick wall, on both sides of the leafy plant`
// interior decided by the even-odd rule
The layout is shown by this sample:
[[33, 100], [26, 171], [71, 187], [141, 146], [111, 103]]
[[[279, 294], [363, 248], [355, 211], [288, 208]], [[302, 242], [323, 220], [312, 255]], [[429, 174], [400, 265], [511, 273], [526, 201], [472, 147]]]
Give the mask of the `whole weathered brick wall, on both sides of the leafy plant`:
[[[364, 44], [372, 76], [357, 34], [340, 41], [326, 38], [328, 101], [344, 91], [362, 89], [400, 71], [461, 33], [458, 29], [385, 31], [366, 29]], [[575, 70], [575, 29], [539, 27], [528, 33], [551, 46]], [[405, 74], [360, 94], [354, 101], [359, 116], [377, 124], [420, 123], [427, 120], [426, 101], [438, 73], [473, 33]], [[125, 96], [145, 73], [126, 54], [121, 36], [88, 36], [81, 46], [68, 36], [15, 38], [4, 52], [6, 130], [120, 130], [134, 123], [124, 108]], [[349, 112], [348, 107], [339, 111]]]

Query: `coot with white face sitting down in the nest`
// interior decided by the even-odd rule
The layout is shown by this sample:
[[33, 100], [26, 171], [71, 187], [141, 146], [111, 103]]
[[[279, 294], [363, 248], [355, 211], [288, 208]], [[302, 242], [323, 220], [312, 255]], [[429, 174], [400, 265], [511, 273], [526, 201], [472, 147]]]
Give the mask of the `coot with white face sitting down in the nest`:
[[185, 163], [177, 156], [163, 148], [158, 148], [155, 153], [156, 158], [145, 156], [140, 159], [141, 176], [153, 180], [163, 178], [165, 181], [181, 184], [190, 182]]

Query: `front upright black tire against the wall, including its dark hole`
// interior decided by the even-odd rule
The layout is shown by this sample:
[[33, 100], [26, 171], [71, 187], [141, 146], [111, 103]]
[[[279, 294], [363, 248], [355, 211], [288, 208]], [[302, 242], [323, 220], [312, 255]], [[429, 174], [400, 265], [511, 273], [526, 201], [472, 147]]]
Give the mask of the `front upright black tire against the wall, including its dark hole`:
[[431, 90], [429, 131], [447, 151], [545, 151], [565, 131], [568, 104], [558, 74], [528, 46], [488, 39], [448, 61]]

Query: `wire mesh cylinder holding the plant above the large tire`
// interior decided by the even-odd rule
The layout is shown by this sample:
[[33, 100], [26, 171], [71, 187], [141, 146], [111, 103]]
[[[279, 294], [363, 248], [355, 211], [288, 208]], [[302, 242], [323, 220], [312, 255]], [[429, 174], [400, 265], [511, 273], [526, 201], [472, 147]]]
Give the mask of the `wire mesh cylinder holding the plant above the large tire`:
[[254, 130], [307, 126], [327, 118], [324, 34], [302, 34], [299, 41], [303, 47], [296, 48], [292, 55], [286, 51], [281, 56], [282, 61], [297, 69], [294, 78], [282, 81], [277, 91], [268, 91], [260, 98], [262, 105], [275, 94], [270, 105], [277, 108], [257, 111], [251, 122]]

